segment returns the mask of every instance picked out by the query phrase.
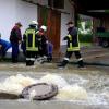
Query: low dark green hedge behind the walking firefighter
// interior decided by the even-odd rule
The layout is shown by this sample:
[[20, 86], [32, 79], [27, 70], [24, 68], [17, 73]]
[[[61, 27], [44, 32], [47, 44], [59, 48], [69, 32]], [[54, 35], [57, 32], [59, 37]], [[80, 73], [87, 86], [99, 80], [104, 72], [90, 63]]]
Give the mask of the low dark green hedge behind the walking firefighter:
[[81, 43], [92, 43], [93, 41], [93, 35], [92, 34], [80, 34], [78, 35]]

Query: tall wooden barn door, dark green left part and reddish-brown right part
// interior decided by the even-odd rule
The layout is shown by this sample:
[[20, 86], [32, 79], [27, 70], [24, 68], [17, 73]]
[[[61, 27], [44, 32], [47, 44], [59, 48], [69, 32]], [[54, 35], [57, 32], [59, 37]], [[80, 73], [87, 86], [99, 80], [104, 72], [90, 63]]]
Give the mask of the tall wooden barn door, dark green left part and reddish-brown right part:
[[53, 51], [59, 51], [60, 49], [60, 12], [45, 7], [38, 7], [38, 22], [40, 25], [47, 25], [47, 36], [53, 44]]

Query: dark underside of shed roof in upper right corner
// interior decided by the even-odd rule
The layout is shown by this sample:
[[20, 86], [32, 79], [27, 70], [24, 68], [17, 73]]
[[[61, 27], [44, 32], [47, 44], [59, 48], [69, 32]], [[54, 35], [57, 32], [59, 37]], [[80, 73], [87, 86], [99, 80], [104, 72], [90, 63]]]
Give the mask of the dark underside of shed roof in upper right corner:
[[[74, 1], [74, 3], [76, 4], [76, 10], [81, 14], [99, 16], [99, 17], [109, 15], [109, 0], [72, 0], [72, 1]], [[94, 12], [94, 10], [96, 11]]]

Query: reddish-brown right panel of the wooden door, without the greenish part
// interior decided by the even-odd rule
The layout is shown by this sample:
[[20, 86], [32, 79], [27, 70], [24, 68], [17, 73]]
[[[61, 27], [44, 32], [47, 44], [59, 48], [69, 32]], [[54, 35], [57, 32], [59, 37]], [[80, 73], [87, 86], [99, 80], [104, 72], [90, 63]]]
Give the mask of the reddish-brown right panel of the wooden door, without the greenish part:
[[60, 12], [49, 10], [48, 37], [52, 41], [56, 51], [60, 49]]

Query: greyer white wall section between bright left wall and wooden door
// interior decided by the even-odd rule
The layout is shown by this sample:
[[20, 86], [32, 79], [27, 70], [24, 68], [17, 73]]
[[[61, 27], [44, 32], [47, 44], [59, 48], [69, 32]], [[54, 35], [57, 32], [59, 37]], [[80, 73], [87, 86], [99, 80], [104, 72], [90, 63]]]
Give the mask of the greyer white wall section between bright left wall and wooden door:
[[15, 21], [20, 21], [23, 24], [22, 33], [28, 27], [28, 24], [33, 21], [37, 21], [37, 5], [16, 0], [16, 15]]

